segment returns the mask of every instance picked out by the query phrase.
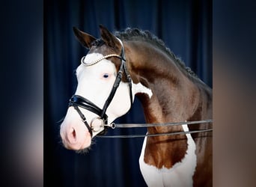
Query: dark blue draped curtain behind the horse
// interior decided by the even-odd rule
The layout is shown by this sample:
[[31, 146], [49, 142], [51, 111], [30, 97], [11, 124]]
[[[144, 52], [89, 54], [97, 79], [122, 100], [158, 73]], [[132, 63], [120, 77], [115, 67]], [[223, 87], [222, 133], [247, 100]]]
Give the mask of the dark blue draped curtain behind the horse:
[[[109, 31], [149, 30], [212, 87], [212, 1], [81, 0], [44, 1], [44, 186], [146, 186], [139, 171], [143, 138], [95, 138], [87, 154], [61, 146], [60, 123], [76, 90], [74, 70], [88, 51], [73, 35], [76, 26], [100, 37]], [[118, 123], [144, 123], [141, 105]], [[115, 129], [114, 134], [145, 134], [146, 129]]]

